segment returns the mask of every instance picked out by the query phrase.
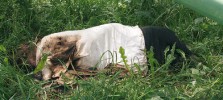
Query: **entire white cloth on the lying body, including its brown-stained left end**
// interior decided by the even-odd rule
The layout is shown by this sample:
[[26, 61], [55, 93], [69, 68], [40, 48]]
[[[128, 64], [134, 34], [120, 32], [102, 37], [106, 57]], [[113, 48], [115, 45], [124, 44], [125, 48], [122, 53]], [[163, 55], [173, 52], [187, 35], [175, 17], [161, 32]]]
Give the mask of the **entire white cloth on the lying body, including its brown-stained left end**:
[[141, 66], [141, 70], [147, 70], [145, 42], [141, 29], [138, 26], [118, 23], [45, 36], [37, 47], [36, 60], [39, 62], [43, 53], [49, 53], [43, 73], [50, 73], [50, 69], [58, 66], [58, 61], [54, 59], [60, 59], [69, 66], [70, 58], [78, 59], [76, 61], [78, 68], [95, 67], [101, 70], [111, 63], [124, 65], [119, 53], [120, 47], [124, 48], [127, 64], [133, 70], [137, 71], [133, 66], [134, 63]]

